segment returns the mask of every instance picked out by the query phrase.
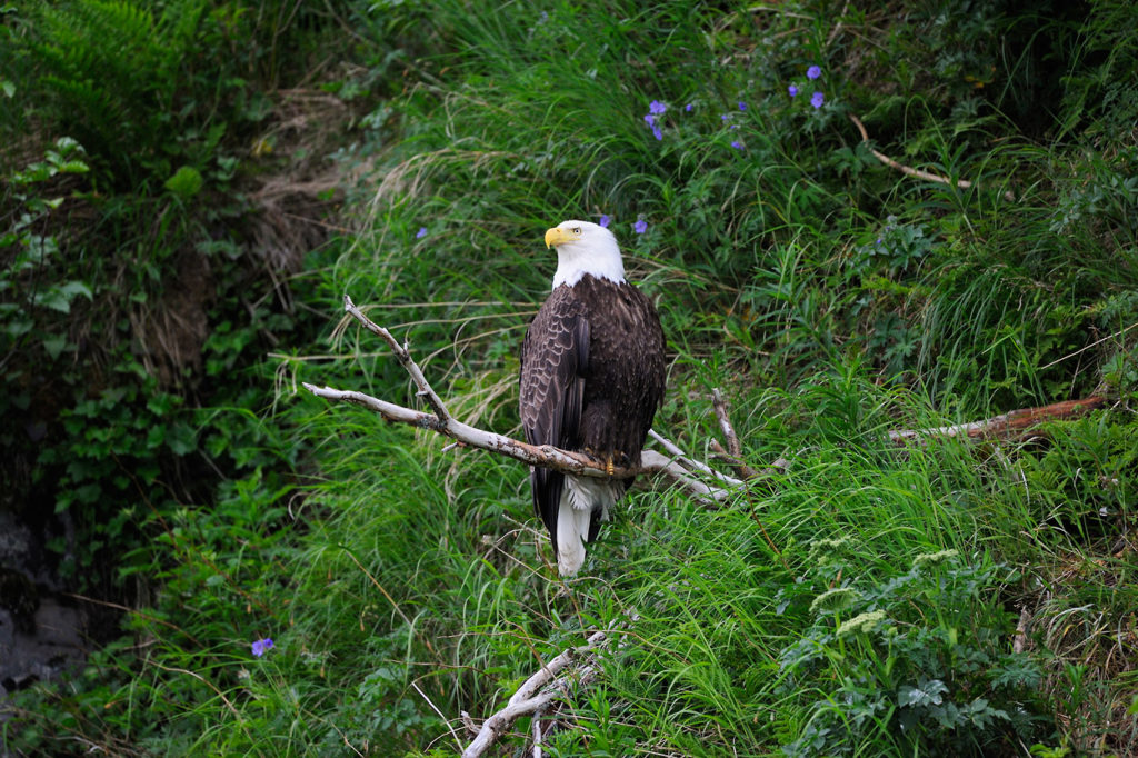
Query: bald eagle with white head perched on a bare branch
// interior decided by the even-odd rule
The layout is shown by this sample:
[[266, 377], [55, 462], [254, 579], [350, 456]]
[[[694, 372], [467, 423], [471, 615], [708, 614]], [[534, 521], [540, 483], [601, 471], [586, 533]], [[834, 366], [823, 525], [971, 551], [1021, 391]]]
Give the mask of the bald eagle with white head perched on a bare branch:
[[[520, 409], [526, 439], [638, 465], [663, 396], [663, 330], [652, 303], [625, 281], [617, 239], [587, 221], [545, 232], [558, 253], [553, 291], [521, 345]], [[534, 510], [545, 522], [562, 576], [585, 562], [609, 509], [632, 479], [576, 477], [534, 468]]]

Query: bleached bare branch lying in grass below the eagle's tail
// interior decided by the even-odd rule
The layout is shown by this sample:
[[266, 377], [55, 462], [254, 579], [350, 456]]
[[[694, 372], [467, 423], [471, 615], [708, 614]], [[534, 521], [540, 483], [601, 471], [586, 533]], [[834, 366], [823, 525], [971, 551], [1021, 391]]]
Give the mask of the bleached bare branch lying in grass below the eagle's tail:
[[[607, 633], [594, 632], [584, 645], [562, 651], [538, 669], [518, 687], [518, 691], [506, 702], [505, 708], [483, 722], [478, 736], [462, 751], [462, 758], [477, 758], [477, 756], [484, 755], [516, 720], [522, 716], [531, 716], [538, 710], [544, 710], [554, 698], [568, 689], [571, 678], [576, 678], [578, 684], [592, 682], [597, 674], [595, 651], [608, 640]], [[555, 674], [569, 667], [570, 664], [576, 664], [576, 677], [567, 675], [553, 678]]]

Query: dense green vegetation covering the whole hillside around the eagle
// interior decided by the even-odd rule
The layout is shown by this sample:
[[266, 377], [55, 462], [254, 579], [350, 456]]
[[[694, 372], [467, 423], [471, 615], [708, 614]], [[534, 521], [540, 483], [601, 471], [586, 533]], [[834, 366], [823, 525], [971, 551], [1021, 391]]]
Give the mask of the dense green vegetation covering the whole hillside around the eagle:
[[[450, 755], [621, 629], [546, 755], [1138, 751], [1128, 2], [2, 10], [2, 506], [135, 609], [7, 750]], [[297, 386], [415, 402], [347, 293], [517, 435], [542, 232], [602, 214], [655, 428], [709, 459], [719, 388], [789, 465], [643, 483], [567, 585], [522, 467]]]

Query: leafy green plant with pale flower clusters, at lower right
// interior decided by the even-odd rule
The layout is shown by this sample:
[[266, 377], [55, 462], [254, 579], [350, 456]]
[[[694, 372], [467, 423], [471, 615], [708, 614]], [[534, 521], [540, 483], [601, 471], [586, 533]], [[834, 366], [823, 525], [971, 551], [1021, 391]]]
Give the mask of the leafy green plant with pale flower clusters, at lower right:
[[[805, 602], [809, 587], [855, 569], [818, 562], [814, 582], [784, 594], [784, 603]], [[844, 579], [817, 594], [815, 621], [782, 650], [780, 668], [787, 692], [825, 698], [784, 752], [856, 755], [885, 743], [897, 755], [987, 755], [1044, 732], [1042, 665], [1007, 650], [1014, 619], [996, 595], [1014, 578], [949, 550], [918, 555], [906, 574]]]

